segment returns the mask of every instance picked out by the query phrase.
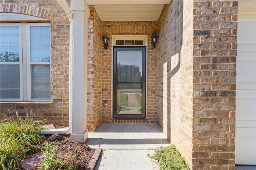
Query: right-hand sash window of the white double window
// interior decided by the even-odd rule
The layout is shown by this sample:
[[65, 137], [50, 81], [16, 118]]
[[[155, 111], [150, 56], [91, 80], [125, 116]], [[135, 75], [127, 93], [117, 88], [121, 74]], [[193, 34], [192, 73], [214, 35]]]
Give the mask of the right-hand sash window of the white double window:
[[29, 26], [31, 99], [50, 99], [50, 27]]

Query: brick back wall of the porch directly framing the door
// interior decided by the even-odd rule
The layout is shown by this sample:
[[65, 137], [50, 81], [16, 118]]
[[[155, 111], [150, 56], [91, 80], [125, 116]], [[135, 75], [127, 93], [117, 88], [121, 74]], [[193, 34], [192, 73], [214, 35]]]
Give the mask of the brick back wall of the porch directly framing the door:
[[[108, 106], [102, 107], [103, 122], [119, 122], [119, 123], [155, 123], [157, 112], [157, 94], [156, 94], [156, 61], [157, 61], [157, 44], [155, 49], [150, 48], [151, 35], [158, 30], [158, 22], [102, 22], [102, 36], [106, 33], [110, 37], [109, 49], [102, 46], [102, 100], [107, 102]], [[111, 95], [112, 95], [112, 53], [111, 53], [111, 36], [114, 34], [146, 34], [148, 35], [148, 63], [147, 63], [147, 119], [111, 119]]]

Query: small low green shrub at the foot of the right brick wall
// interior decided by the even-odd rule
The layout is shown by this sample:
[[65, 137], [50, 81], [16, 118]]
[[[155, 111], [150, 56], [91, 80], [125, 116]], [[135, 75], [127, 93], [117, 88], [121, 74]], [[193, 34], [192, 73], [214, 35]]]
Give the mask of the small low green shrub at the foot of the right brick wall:
[[151, 158], [158, 160], [160, 170], [189, 170], [188, 164], [173, 144], [156, 148]]

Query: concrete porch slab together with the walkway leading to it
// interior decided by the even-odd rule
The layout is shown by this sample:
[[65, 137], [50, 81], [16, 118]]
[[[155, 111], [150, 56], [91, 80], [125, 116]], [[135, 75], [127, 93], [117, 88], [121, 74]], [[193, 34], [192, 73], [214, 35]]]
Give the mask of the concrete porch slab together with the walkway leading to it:
[[170, 143], [157, 124], [104, 123], [88, 133], [91, 148], [103, 152], [96, 170], [158, 170], [154, 149]]

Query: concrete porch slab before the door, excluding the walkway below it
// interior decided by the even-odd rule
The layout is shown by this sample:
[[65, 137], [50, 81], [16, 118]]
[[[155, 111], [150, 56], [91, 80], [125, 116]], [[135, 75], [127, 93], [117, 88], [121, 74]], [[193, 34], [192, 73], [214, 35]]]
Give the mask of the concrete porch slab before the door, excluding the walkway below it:
[[91, 148], [143, 150], [169, 146], [170, 142], [157, 124], [103, 123], [89, 132], [86, 144]]

